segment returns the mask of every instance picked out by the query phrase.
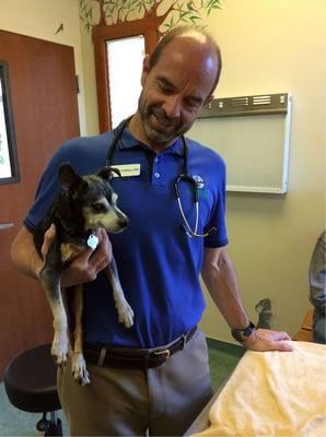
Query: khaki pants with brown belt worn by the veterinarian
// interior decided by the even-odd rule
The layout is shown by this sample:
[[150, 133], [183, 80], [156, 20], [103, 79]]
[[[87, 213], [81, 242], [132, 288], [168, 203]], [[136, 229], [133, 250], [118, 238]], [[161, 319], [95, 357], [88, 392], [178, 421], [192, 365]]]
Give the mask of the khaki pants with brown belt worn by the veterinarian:
[[212, 394], [207, 345], [197, 331], [160, 367], [89, 365], [91, 383], [58, 371], [58, 391], [72, 436], [182, 436]]

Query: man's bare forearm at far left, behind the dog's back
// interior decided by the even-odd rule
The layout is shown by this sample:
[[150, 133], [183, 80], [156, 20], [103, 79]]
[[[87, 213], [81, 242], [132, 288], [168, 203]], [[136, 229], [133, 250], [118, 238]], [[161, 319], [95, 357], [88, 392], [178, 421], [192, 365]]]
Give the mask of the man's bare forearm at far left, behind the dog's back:
[[11, 246], [11, 259], [19, 270], [30, 277], [38, 279], [43, 260], [38, 256], [33, 234], [22, 227]]

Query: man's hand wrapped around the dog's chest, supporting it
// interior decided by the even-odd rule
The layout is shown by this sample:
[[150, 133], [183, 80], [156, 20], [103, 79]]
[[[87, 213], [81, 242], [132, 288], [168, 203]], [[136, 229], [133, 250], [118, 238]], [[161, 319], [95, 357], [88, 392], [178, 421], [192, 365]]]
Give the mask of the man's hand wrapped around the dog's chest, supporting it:
[[[75, 257], [69, 268], [65, 270], [61, 279], [61, 286], [69, 287], [84, 282], [94, 281], [97, 273], [106, 268], [112, 260], [112, 245], [104, 228], [97, 228], [95, 235], [98, 238], [98, 246], [95, 250], [85, 249]], [[44, 236], [42, 255], [45, 259], [48, 248], [56, 236], [56, 227], [51, 225]]]

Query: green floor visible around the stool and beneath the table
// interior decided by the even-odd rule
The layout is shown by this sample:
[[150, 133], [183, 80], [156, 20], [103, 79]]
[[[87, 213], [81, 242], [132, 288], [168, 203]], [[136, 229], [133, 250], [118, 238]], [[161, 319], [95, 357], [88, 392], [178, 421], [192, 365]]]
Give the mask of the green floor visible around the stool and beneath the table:
[[[244, 353], [244, 349], [217, 340], [208, 339], [211, 381], [214, 391], [225, 381]], [[40, 436], [35, 428], [42, 414], [25, 413], [13, 408], [5, 395], [3, 383], [0, 383], [0, 436]], [[59, 412], [63, 432], [67, 435], [67, 423]]]

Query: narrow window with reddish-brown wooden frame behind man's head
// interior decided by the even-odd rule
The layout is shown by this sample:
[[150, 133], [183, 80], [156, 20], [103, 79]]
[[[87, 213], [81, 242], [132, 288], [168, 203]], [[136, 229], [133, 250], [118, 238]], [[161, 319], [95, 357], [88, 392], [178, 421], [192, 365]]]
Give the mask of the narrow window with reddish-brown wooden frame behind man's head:
[[158, 40], [156, 17], [93, 27], [101, 132], [136, 110], [143, 55], [151, 54]]

